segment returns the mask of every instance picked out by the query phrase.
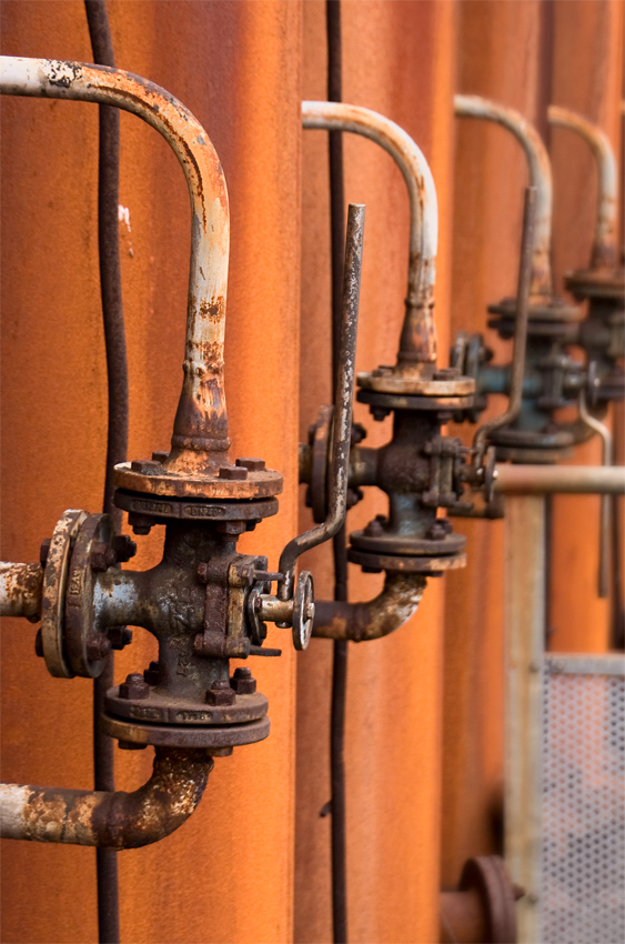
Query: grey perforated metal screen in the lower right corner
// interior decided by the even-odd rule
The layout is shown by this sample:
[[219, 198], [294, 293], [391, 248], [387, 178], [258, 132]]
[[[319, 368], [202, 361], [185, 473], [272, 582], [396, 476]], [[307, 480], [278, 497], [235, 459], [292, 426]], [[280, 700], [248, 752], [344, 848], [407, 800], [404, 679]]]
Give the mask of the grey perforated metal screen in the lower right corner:
[[625, 679], [622, 661], [619, 674], [593, 662], [605, 672], [605, 657], [545, 660], [545, 944], [625, 941]]

